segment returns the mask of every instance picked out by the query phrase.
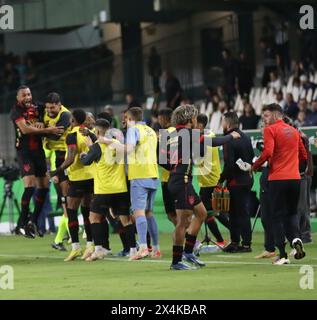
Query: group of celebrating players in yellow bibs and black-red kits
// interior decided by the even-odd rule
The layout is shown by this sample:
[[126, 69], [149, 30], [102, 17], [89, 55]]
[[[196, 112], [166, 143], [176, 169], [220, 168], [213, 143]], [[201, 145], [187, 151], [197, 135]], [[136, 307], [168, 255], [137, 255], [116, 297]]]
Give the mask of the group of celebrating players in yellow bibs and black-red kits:
[[[161, 165], [165, 210], [175, 225], [171, 269], [191, 270], [204, 266], [193, 249], [201, 225], [206, 221], [207, 210], [211, 210], [211, 194], [220, 175], [215, 147], [240, 138], [234, 131], [223, 137], [207, 135], [205, 118], [198, 115], [193, 105], [174, 111], [163, 109], [159, 113], [162, 130], [157, 134], [143, 122], [142, 108], [132, 107], [124, 112], [126, 130], [113, 130], [107, 113], [91, 121], [84, 110], [70, 112], [65, 108], [57, 93], [48, 94], [44, 104], [35, 104], [30, 88], [19, 87], [11, 112], [25, 187], [18, 231], [30, 238], [43, 236], [38, 218], [51, 178], [61, 190], [64, 209], [55, 245], [63, 248], [61, 242], [67, 228], [72, 242], [72, 250], [65, 261], [78, 257], [94, 261], [109, 254], [109, 216], [116, 217], [122, 225], [123, 244], [125, 252], [129, 250], [126, 252], [129, 260], [148, 256], [160, 258], [153, 206]], [[198, 136], [193, 129], [200, 129]], [[197, 158], [205, 159], [196, 166], [203, 202], [192, 184], [197, 146]], [[49, 174], [45, 152], [54, 153]], [[29, 204], [35, 189], [35, 208], [30, 214]], [[84, 252], [78, 235], [79, 207], [87, 241]], [[222, 220], [223, 224], [228, 224], [226, 219]], [[213, 217], [208, 222], [211, 229], [215, 228]], [[153, 245], [151, 252], [148, 234]]]

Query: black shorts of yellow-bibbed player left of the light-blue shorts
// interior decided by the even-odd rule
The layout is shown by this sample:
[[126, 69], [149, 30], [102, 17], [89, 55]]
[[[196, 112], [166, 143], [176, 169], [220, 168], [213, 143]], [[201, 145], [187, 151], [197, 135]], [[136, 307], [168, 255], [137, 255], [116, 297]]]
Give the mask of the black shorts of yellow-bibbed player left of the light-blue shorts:
[[130, 215], [130, 199], [127, 192], [112, 193], [112, 194], [95, 194], [90, 211], [107, 214], [111, 208], [112, 212], [116, 216], [128, 216]]

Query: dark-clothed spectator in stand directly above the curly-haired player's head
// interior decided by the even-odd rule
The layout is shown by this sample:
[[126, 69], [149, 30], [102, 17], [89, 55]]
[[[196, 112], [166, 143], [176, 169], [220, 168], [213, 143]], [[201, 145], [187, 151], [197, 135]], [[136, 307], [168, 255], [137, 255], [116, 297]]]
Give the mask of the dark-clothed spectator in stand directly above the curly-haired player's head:
[[182, 100], [182, 88], [179, 80], [170, 72], [164, 72], [166, 107], [176, 109]]

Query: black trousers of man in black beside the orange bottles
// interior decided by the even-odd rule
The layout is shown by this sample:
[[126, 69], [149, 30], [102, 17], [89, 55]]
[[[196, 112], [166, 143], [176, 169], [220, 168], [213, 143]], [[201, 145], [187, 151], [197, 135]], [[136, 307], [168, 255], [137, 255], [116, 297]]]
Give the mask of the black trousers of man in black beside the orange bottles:
[[229, 187], [230, 191], [230, 237], [231, 242], [250, 246], [252, 240], [251, 221], [249, 213], [249, 198], [251, 187], [234, 186]]

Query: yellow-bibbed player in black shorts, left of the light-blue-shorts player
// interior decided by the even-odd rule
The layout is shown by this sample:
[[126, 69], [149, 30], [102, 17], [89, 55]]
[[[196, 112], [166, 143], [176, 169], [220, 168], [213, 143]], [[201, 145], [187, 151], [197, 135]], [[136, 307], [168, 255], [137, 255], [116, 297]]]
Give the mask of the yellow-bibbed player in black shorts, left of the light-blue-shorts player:
[[[109, 128], [110, 124], [107, 120], [98, 119], [96, 121], [97, 138], [104, 137]], [[84, 165], [95, 162], [94, 198], [89, 216], [95, 251], [86, 260], [103, 259], [108, 254], [108, 250], [102, 247], [105, 242], [104, 238], [109, 236], [102, 217], [108, 212], [109, 208], [112, 209], [114, 215], [119, 216], [124, 226], [128, 247], [135, 248], [135, 229], [130, 220], [130, 199], [126, 183], [124, 153], [122, 152], [119, 155], [114, 150], [113, 145], [101, 144], [97, 140], [87, 154], [81, 155], [80, 161]], [[109, 240], [106, 239], [106, 241]]]

